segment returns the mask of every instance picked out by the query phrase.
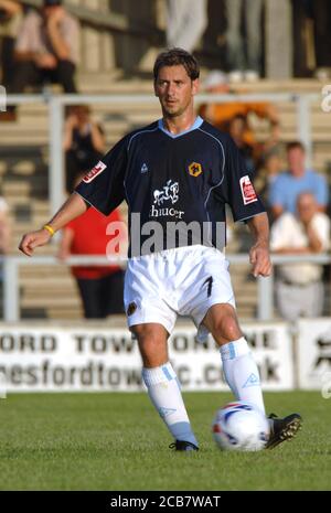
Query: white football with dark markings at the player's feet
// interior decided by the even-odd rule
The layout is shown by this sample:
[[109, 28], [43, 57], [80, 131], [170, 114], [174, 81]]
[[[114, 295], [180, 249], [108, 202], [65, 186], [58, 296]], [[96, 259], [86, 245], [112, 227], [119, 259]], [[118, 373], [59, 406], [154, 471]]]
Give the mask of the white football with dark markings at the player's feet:
[[217, 410], [213, 436], [223, 450], [257, 451], [266, 447], [269, 423], [256, 406], [237, 400]]

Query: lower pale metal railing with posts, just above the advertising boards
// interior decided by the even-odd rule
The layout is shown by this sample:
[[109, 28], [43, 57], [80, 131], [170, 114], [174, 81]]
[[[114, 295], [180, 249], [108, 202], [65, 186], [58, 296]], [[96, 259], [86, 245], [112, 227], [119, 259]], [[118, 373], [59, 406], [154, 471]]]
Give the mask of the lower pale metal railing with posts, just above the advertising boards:
[[[248, 255], [246, 254], [228, 254], [226, 255], [229, 264], [249, 265]], [[331, 256], [327, 254], [320, 255], [273, 255], [273, 264], [275, 266], [281, 264], [299, 264], [312, 263], [325, 265], [331, 263]], [[54, 256], [34, 256], [26, 258], [23, 256], [8, 256], [2, 258], [3, 269], [3, 318], [8, 322], [20, 320], [20, 293], [19, 293], [19, 269], [22, 266], [76, 266], [76, 265], [94, 265], [105, 266], [110, 263], [126, 267], [125, 257], [104, 256], [74, 256], [61, 263]], [[268, 278], [257, 278], [257, 319], [260, 321], [271, 320], [274, 318], [274, 276]]]

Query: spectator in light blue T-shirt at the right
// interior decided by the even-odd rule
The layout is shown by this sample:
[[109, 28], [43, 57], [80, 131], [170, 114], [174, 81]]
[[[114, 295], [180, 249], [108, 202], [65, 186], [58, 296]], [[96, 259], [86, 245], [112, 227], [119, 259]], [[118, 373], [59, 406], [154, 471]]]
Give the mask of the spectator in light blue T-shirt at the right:
[[269, 201], [273, 215], [278, 217], [284, 212], [296, 213], [298, 195], [310, 191], [318, 210], [324, 212], [328, 204], [328, 185], [324, 177], [305, 167], [306, 151], [299, 141], [287, 145], [288, 171], [280, 173], [270, 188]]

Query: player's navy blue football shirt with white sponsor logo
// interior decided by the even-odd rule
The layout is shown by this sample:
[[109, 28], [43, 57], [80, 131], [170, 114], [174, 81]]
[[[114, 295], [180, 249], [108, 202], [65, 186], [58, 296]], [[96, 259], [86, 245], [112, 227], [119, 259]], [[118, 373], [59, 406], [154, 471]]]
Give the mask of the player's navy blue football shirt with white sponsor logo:
[[[158, 244], [145, 244], [149, 249], [142, 253], [192, 244], [220, 248], [217, 226], [224, 231], [226, 204], [234, 221], [265, 212], [232, 138], [200, 117], [179, 135], [170, 133], [162, 120], [128, 133], [76, 192], [105, 215], [127, 201], [130, 256], [141, 254], [151, 233]], [[185, 227], [192, 227], [186, 241], [181, 238]], [[169, 237], [173, 231], [175, 237]], [[139, 250], [137, 244], [132, 250], [132, 237]]]

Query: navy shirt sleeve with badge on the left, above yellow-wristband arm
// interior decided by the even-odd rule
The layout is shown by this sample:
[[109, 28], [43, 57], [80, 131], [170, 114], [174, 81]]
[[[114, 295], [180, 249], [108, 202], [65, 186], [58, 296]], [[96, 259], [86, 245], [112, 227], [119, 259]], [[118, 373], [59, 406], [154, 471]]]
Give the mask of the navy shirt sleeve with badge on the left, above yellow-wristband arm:
[[109, 215], [125, 199], [126, 169], [127, 140], [124, 138], [83, 178], [75, 192]]

